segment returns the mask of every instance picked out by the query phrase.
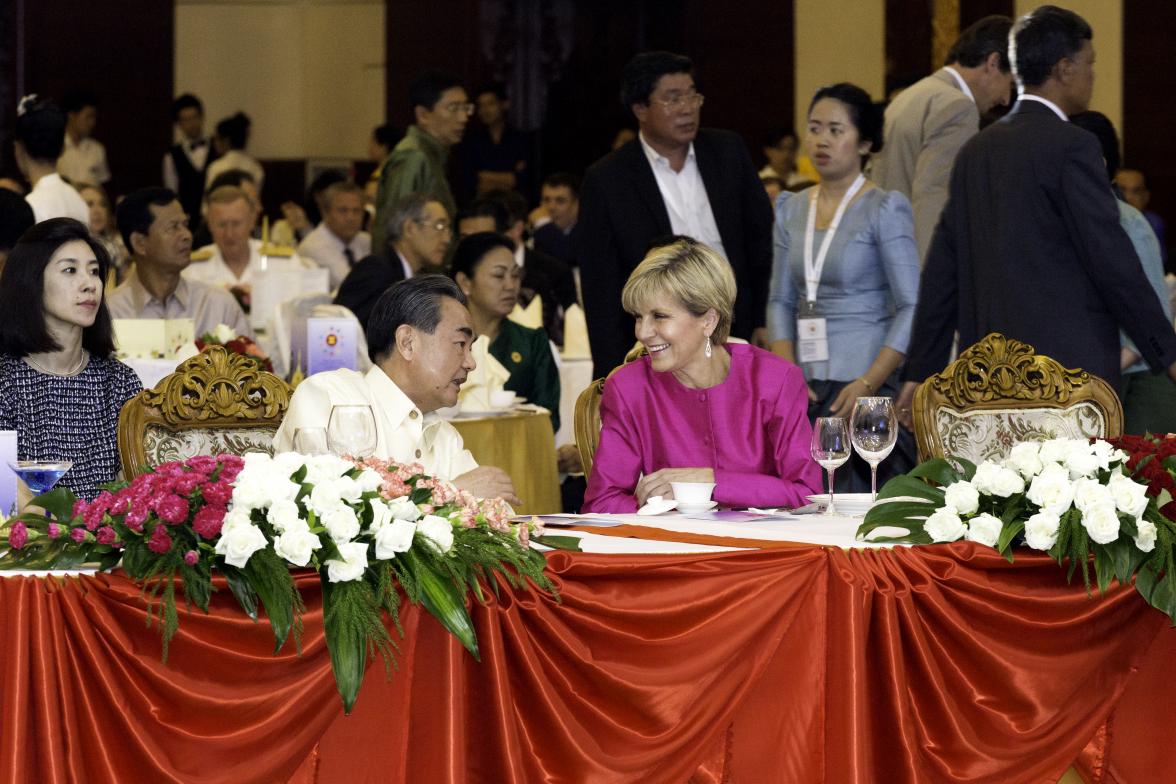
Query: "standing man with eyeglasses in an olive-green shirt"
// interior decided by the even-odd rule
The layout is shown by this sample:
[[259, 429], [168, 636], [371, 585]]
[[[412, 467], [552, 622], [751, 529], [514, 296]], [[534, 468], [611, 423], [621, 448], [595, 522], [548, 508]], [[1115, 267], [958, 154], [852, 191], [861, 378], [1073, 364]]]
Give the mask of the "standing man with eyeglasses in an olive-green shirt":
[[449, 148], [461, 141], [474, 105], [461, 80], [441, 71], [426, 71], [417, 76], [408, 87], [408, 100], [416, 122], [408, 126], [408, 133], [381, 168], [372, 226], [373, 248], [385, 247], [388, 219], [410, 193], [423, 193], [441, 202], [447, 219], [457, 213], [446, 179], [446, 158]]

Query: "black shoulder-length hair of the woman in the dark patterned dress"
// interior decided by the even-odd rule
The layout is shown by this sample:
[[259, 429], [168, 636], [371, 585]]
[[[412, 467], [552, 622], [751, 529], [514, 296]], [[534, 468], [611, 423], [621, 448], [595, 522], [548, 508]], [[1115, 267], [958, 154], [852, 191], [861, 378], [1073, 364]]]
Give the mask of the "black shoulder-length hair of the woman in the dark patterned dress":
[[[85, 225], [72, 217], [51, 217], [28, 229], [0, 273], [0, 351], [26, 356], [61, 350], [45, 326], [45, 268], [58, 248], [75, 240], [94, 252], [99, 280], [106, 281], [111, 256]], [[114, 328], [105, 289], [94, 323], [81, 331], [81, 344], [94, 356], [108, 357], [114, 353]]]

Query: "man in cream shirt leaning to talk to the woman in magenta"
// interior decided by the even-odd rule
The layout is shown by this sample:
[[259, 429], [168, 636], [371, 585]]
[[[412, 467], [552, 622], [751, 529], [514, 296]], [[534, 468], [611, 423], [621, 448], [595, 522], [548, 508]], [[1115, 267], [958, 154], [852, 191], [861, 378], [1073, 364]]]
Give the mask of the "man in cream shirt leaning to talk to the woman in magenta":
[[367, 341], [375, 363], [367, 373], [329, 370], [299, 384], [274, 449], [289, 451], [301, 429], [326, 429], [334, 406], [370, 406], [375, 457], [420, 463], [426, 474], [477, 497], [520, 503], [507, 473], [480, 467], [461, 434], [435, 414], [457, 403], [461, 384], [476, 367], [474, 328], [457, 284], [441, 275], [395, 283], [372, 309]]

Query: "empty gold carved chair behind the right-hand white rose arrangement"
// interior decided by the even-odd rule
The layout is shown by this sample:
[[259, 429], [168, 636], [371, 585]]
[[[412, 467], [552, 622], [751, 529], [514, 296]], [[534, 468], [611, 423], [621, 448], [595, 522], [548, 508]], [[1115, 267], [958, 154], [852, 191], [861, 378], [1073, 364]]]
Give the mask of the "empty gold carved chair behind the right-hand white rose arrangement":
[[921, 460], [998, 460], [1020, 441], [1115, 437], [1123, 406], [1105, 381], [991, 333], [915, 390]]

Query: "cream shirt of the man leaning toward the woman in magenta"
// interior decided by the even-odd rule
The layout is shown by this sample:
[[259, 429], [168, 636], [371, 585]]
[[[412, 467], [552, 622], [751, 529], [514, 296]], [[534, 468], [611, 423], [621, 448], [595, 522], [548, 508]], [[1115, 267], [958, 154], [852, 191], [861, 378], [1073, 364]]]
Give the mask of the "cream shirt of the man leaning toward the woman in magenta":
[[370, 406], [375, 415], [375, 457], [420, 463], [426, 474], [453, 480], [477, 468], [456, 428], [436, 414], [421, 414], [400, 387], [379, 367], [318, 373], [298, 386], [282, 425], [274, 435], [275, 451], [294, 448], [294, 433], [327, 428], [333, 406]]

